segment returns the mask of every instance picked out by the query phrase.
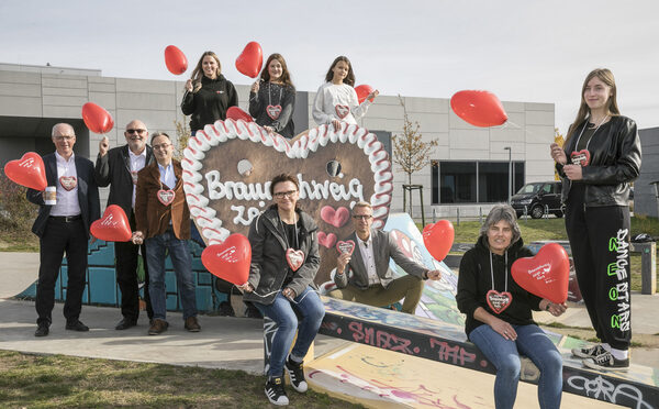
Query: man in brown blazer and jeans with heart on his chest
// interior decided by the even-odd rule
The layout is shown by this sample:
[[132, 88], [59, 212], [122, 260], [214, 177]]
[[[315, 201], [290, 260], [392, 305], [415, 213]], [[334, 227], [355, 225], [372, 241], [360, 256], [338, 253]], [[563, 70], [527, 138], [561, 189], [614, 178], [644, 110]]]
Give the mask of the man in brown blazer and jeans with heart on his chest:
[[190, 241], [190, 209], [183, 192], [181, 163], [174, 159], [174, 145], [165, 132], [152, 135], [156, 161], [139, 170], [135, 198], [133, 243], [146, 245], [149, 270], [149, 295], [154, 308], [149, 335], [167, 331], [167, 290], [165, 259], [167, 252], [174, 265], [186, 330], [199, 332], [197, 321], [197, 288], [192, 274]]

